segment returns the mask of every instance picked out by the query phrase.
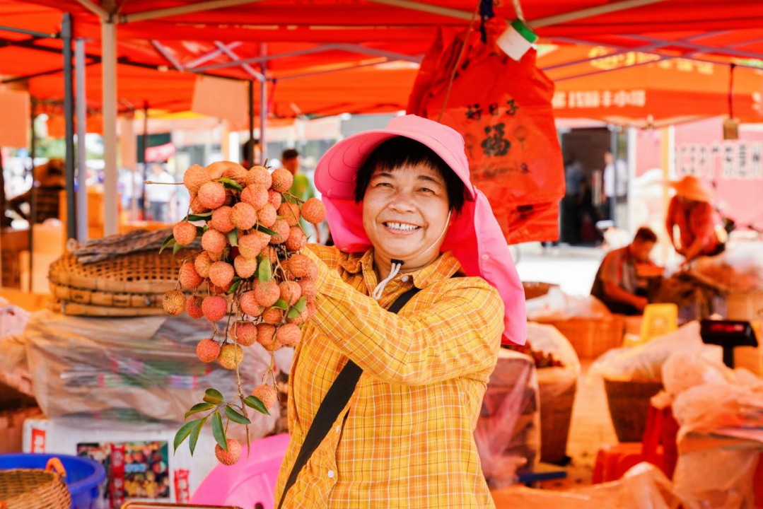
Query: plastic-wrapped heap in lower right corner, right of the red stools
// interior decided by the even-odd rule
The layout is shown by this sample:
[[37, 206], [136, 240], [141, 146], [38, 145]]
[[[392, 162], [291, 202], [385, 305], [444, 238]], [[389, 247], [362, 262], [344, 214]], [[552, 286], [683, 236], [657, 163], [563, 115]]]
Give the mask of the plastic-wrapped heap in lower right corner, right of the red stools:
[[[681, 425], [674, 488], [684, 507], [755, 507], [753, 477], [763, 451], [763, 380], [687, 352], [670, 356], [662, 379], [665, 394], [654, 399], [671, 403]], [[724, 435], [739, 440], [720, 440]]]

